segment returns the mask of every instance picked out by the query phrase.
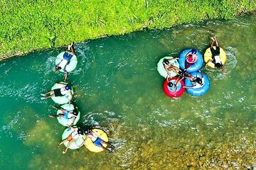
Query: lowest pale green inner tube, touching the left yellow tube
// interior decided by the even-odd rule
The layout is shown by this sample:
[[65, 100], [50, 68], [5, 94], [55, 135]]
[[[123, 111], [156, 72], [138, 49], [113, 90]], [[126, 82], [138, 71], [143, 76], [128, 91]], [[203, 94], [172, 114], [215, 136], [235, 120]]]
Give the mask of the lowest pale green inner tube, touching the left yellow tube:
[[[65, 140], [74, 131], [75, 130], [70, 130], [70, 129], [66, 128], [63, 132], [62, 140]], [[85, 135], [82, 135], [77, 140], [75, 140], [75, 142], [72, 142], [68, 149], [78, 149], [78, 148], [82, 147], [82, 142], [84, 142], [84, 141], [85, 141]], [[64, 142], [64, 145], [65, 145], [65, 147], [67, 147], [68, 141]]]

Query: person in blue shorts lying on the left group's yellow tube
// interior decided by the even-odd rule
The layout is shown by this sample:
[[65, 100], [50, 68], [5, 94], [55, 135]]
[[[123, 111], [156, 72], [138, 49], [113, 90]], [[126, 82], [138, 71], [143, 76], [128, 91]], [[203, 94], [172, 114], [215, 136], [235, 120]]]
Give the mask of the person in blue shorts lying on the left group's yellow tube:
[[[114, 149], [114, 145], [111, 145], [109, 142], [105, 142], [100, 137], [97, 137], [95, 132], [92, 132], [92, 130], [88, 130], [85, 141], [87, 140], [87, 137], [89, 137], [92, 140], [92, 142], [94, 143], [94, 145], [96, 145], [97, 147], [101, 147], [102, 149], [105, 149], [110, 153], [113, 152], [112, 149]], [[110, 147], [104, 147], [103, 144], [106, 144]]]

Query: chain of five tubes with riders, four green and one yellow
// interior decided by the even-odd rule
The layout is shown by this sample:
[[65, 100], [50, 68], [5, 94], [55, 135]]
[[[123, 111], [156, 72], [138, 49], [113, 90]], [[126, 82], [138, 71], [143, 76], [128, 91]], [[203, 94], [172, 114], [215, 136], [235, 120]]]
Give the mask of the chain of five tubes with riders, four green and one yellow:
[[60, 106], [53, 106], [57, 110], [56, 115], [49, 115], [49, 117], [57, 118], [58, 123], [68, 127], [65, 128], [62, 135], [62, 142], [58, 144], [58, 147], [63, 144], [65, 145], [63, 154], [68, 149], [78, 149], [82, 145], [85, 145], [91, 152], [102, 152], [103, 150], [112, 152], [114, 146], [108, 142], [106, 132], [100, 128], [92, 128], [84, 131], [76, 125], [80, 119], [80, 111], [72, 102], [74, 94], [73, 87], [66, 81], [68, 72], [72, 72], [75, 69], [78, 59], [74, 54], [75, 50], [70, 52], [70, 47], [69, 45], [65, 52], [60, 52], [55, 60], [55, 70], [65, 73], [64, 80], [54, 84], [46, 94], [41, 94], [41, 99], [52, 98], [55, 103], [60, 104]]

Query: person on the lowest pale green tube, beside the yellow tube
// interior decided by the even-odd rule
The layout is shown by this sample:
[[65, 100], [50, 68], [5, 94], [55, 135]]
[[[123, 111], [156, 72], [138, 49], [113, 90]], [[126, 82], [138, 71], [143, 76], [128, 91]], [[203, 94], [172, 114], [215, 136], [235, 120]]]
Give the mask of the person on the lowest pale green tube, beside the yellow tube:
[[60, 142], [57, 147], [60, 147], [60, 145], [63, 145], [63, 143], [68, 141], [67, 147], [63, 150], [63, 154], [65, 154], [68, 151], [68, 148], [70, 147], [71, 143], [75, 142], [78, 140], [79, 137], [82, 137], [84, 135], [84, 132], [82, 131], [81, 128], [73, 128], [70, 127], [70, 130], [74, 130], [65, 140]]

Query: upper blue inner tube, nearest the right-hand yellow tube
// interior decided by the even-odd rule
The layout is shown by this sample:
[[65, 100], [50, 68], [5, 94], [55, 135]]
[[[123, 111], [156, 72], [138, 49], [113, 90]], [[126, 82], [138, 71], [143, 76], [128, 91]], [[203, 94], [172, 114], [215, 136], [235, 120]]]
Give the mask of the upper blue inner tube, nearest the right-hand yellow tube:
[[[181, 52], [181, 54], [179, 55], [178, 62], [179, 62], [181, 69], [186, 68], [186, 55], [188, 54], [188, 52], [191, 52], [191, 50], [193, 50], [193, 49], [188, 48], [186, 50], [183, 50], [183, 52]], [[201, 69], [201, 67], [203, 66], [203, 56], [202, 56], [201, 52], [199, 50], [196, 50], [196, 54], [198, 55], [198, 59], [196, 60], [196, 62], [191, 64], [191, 66], [188, 67], [188, 69], [186, 69], [186, 72], [188, 72], [188, 73], [196, 72], [196, 71], [198, 71], [198, 69]]]

